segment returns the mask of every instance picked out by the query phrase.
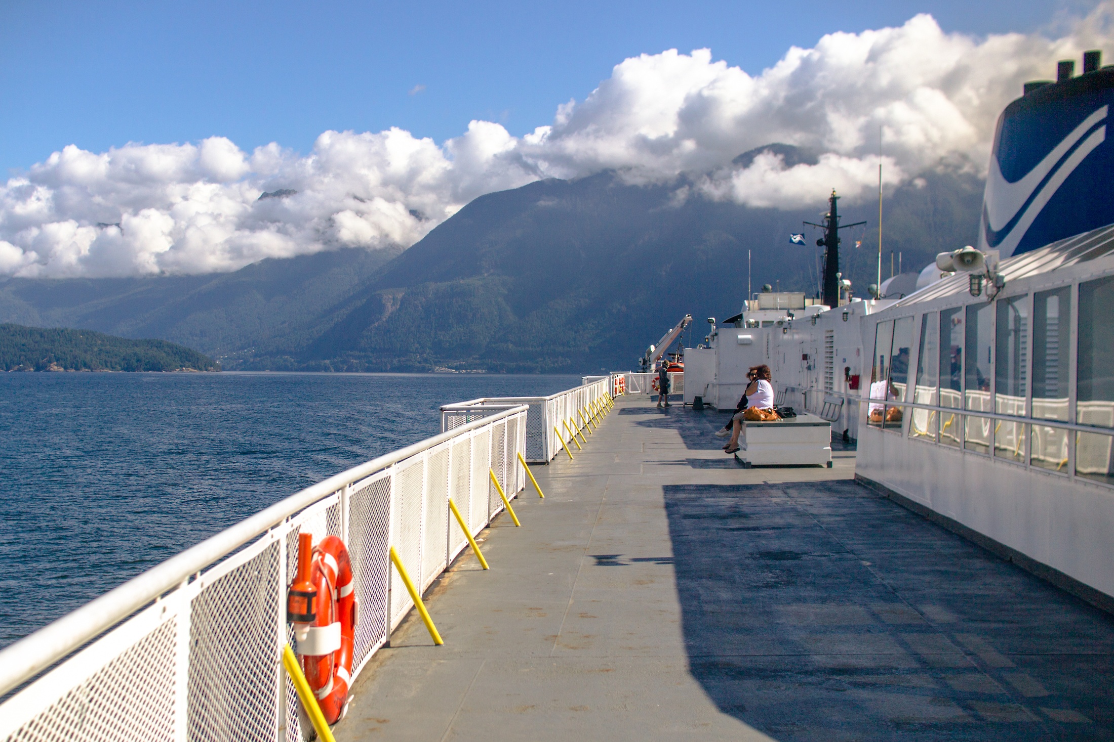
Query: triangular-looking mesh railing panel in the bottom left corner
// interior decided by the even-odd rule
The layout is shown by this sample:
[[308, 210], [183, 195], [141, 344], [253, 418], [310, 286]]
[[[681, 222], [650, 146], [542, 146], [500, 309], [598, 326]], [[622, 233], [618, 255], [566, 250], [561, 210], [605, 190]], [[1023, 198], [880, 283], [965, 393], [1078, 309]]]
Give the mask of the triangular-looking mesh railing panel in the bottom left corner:
[[174, 740], [176, 637], [176, 621], [162, 624], [4, 742]]

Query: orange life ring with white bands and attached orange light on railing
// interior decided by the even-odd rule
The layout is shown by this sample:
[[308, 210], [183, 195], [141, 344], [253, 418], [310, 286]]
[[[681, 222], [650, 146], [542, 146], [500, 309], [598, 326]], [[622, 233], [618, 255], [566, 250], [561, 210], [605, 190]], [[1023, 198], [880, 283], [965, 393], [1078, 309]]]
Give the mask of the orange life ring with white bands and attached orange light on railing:
[[[305, 680], [325, 721], [335, 724], [344, 711], [352, 682], [355, 582], [343, 541], [325, 536], [311, 554], [312, 540], [310, 534], [299, 534], [299, 575], [291, 585], [287, 615], [294, 623], [296, 652], [302, 657]], [[302, 601], [309, 594], [313, 597], [306, 601], [310, 605], [304, 611]]]

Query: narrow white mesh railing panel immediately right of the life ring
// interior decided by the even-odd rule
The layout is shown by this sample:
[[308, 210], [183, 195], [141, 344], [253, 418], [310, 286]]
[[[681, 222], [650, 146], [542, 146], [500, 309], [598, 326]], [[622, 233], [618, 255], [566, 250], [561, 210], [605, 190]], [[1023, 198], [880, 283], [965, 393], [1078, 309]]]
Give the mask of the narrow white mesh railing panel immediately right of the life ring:
[[384, 472], [360, 483], [349, 498], [349, 554], [355, 566], [355, 598], [360, 602], [353, 670], [387, 640], [390, 533], [391, 476]]

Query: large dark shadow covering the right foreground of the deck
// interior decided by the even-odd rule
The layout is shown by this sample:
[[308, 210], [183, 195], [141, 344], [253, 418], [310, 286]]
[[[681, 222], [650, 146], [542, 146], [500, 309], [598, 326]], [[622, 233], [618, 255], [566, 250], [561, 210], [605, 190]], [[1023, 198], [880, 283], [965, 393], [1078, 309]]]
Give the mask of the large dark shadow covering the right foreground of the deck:
[[724, 713], [779, 740], [1114, 735], [1097, 609], [853, 482], [664, 491], [690, 670]]

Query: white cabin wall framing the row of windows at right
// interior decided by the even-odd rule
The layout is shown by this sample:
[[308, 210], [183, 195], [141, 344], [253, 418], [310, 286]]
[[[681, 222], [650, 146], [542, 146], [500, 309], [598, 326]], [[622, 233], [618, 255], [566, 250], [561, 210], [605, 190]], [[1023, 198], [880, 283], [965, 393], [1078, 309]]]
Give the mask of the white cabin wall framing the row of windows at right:
[[[1104, 230], [1096, 230], [1102, 231]], [[1073, 240], [1078, 244], [1078, 250], [1089, 247], [1092, 255], [1097, 257], [1084, 255], [1074, 261], [1061, 260], [1057, 256], [1064, 253], [1064, 248], [1058, 251], [1042, 248], [1004, 261], [1003, 273], [1007, 283], [996, 297], [997, 301], [1023, 297], [1032, 307], [1035, 293], [1071, 287], [1072, 321], [1067, 336], [1071, 353], [1069, 394], [1068, 399], [1061, 400], [1062, 404], [1058, 405], [1065, 407], [1067, 414], [1048, 415], [1057, 419], [1033, 418], [1032, 383], [1027, 385], [1025, 398], [1007, 398], [1005, 402], [1010, 404], [999, 404], [995, 412], [989, 399], [996, 392], [996, 375], [991, 376], [989, 393], [971, 389], [970, 394], [965, 395], [966, 410], [934, 410], [934, 405], [916, 404], [913, 374], [920, 362], [919, 338], [925, 317], [929, 316], [938, 321], [939, 313], [951, 307], [961, 307], [964, 311], [960, 314], [967, 316], [968, 306], [987, 305], [985, 295], [970, 296], [966, 276], [957, 276], [907, 297], [896, 306], [870, 316], [870, 320], [864, 323], [867, 335], [872, 336], [879, 323], [910, 317], [913, 343], [909, 359], [909, 388], [902, 390], [900, 400], [890, 403], [891, 406], [903, 408], [902, 422], [882, 429], [870, 424], [863, 410], [858, 427], [856, 473], [1084, 585], [1106, 595], [1114, 595], [1114, 541], [1111, 540], [1111, 533], [1114, 533], [1114, 487], [1085, 475], [1105, 474], [1107, 481], [1114, 481], [1111, 477], [1114, 437], [1108, 437], [1114, 434], [1114, 429], [1111, 429], [1114, 416], [1094, 414], [1094, 408], [1098, 407], [1114, 410], [1114, 402], [1076, 404], [1078, 287], [1081, 281], [1114, 275], [1114, 257], [1108, 254], [1114, 249], [1114, 229], [1106, 229], [1100, 237], [1093, 235]], [[1100, 238], [1105, 240], [1105, 247], [1103, 244], [1097, 247], [1088, 246], [1087, 239], [1095, 243]], [[1073, 240], [1065, 243], [1072, 247]], [[997, 330], [997, 311], [990, 314], [994, 337]], [[1026, 378], [1029, 380], [1034, 357], [1033, 314], [1028, 313], [1026, 328], [1029, 338]], [[1105, 321], [1110, 321], [1108, 316]], [[941, 340], [939, 353], [945, 352], [944, 346], [945, 342]], [[872, 347], [872, 337], [864, 347]], [[991, 355], [996, 353], [995, 348]], [[938, 356], [926, 360], [934, 363], [937, 358]], [[965, 357], [965, 376], [967, 360]], [[864, 367], [864, 373], [869, 380], [869, 368]], [[1114, 369], [1106, 369], [1104, 373], [1114, 373]], [[869, 383], [862, 386], [866, 396]], [[962, 404], [964, 397], [955, 393], [952, 396]], [[922, 392], [916, 397], [928, 398]], [[1003, 402], [1000, 395], [998, 400]], [[867, 404], [866, 399], [862, 404]], [[1040, 414], [1042, 410], [1047, 413], [1049, 405], [1038, 404], [1036, 407], [1036, 412]], [[1026, 408], [1030, 410], [1029, 416], [1025, 415]], [[939, 434], [910, 437], [910, 423], [917, 421], [922, 428], [934, 413], [956, 416], [954, 441], [951, 434], [948, 434], [948, 441], [952, 445], [945, 445]], [[974, 418], [975, 424], [969, 426], [970, 429], [965, 429], [968, 426], [964, 425], [964, 418]], [[993, 437], [995, 432], [1000, 435], [1003, 429], [1010, 428], [1028, 432], [1028, 435], [1012, 435], [1009, 441], [999, 438], [996, 445]], [[1082, 443], [1078, 443], [1081, 439], [1077, 436], [1081, 434]], [[1062, 456], [1062, 461], [1052, 464], [1044, 461], [1048, 458], [1045, 451], [1047, 445], [1033, 446], [1034, 437], [1062, 442], [1063, 452], [1056, 455]], [[966, 438], [970, 438], [970, 447], [964, 445]], [[990, 441], [986, 453], [978, 451], [986, 447], [984, 438]], [[1028, 438], [1028, 443], [1025, 438]], [[1020, 455], [1013, 449], [1015, 447]], [[1026, 448], [1029, 448], [1027, 456]]]

